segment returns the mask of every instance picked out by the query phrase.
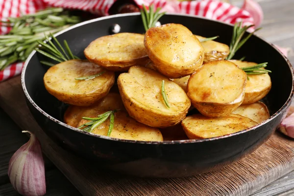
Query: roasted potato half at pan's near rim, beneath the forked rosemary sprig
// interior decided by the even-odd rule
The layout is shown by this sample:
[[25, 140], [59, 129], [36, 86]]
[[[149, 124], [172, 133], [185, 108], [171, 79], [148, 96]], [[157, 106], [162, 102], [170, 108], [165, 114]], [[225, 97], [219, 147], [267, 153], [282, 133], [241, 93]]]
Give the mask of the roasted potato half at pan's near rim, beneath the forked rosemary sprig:
[[[104, 112], [106, 111], [99, 114]], [[77, 127], [87, 122], [89, 121], [83, 119], [78, 123]], [[108, 118], [104, 123], [96, 127], [92, 133], [107, 136], [109, 123]], [[110, 137], [124, 140], [163, 141], [162, 134], [158, 128], [139, 123], [122, 110], [114, 114], [114, 126]]]

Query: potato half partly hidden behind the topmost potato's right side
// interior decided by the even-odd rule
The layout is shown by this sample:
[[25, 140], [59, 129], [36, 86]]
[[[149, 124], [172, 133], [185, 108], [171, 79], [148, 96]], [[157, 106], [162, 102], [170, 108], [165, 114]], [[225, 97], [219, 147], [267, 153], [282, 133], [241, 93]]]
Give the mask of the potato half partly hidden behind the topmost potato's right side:
[[[197, 39], [201, 42], [201, 39], [205, 37], [195, 35]], [[203, 63], [208, 63], [210, 61], [224, 60], [230, 53], [230, 48], [228, 45], [209, 40], [206, 42], [201, 42], [204, 48], [204, 61]]]

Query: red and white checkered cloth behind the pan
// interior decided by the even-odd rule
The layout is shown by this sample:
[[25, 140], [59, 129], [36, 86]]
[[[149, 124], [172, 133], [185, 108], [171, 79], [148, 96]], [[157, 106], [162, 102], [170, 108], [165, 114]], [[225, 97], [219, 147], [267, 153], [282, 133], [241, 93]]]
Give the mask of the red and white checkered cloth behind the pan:
[[[18, 17], [20, 13], [29, 14], [49, 6], [81, 9], [98, 15], [108, 15], [108, 10], [116, 0], [0, 0], [0, 20], [7, 17]], [[162, 7], [162, 11], [185, 13], [203, 16], [209, 19], [220, 20], [225, 23], [235, 24], [243, 20], [244, 25], [252, 25], [253, 18], [250, 14], [229, 3], [220, 0], [134, 0], [142, 6], [154, 4], [155, 8]], [[6, 34], [9, 27], [1, 26], [0, 34]], [[0, 81], [21, 73], [24, 63], [14, 63], [0, 72]]]

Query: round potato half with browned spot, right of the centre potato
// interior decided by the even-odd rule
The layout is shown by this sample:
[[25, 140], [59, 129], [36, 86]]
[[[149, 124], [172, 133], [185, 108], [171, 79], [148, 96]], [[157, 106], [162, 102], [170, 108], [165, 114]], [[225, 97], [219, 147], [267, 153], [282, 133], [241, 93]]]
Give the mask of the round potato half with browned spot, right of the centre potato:
[[234, 63], [211, 61], [189, 78], [188, 97], [204, 116], [227, 116], [243, 102], [246, 79]]

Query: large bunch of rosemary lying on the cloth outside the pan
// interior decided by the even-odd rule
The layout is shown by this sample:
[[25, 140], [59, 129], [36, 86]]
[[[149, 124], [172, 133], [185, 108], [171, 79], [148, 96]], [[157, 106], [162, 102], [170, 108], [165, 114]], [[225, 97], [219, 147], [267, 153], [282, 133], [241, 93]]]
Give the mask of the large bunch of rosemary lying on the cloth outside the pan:
[[70, 16], [62, 8], [48, 8], [19, 18], [7, 18], [2, 26], [11, 27], [7, 35], [0, 35], [0, 70], [16, 61], [25, 61], [28, 55], [49, 33], [56, 33], [79, 23], [77, 16]]

